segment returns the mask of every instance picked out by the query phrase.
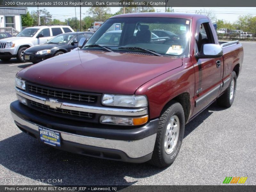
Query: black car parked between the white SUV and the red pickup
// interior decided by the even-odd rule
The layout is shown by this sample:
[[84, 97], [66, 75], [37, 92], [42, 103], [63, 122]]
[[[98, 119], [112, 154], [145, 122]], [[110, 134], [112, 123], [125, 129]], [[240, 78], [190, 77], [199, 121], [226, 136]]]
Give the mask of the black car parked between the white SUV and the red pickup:
[[57, 35], [45, 44], [35, 45], [25, 50], [24, 61], [38, 63], [42, 60], [70, 52], [78, 47], [81, 38], [89, 39], [92, 32], [69, 32]]

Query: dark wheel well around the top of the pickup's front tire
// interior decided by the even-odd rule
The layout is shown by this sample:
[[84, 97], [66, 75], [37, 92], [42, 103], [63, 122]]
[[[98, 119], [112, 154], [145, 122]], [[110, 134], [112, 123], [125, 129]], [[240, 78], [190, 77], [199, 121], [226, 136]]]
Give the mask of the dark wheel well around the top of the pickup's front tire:
[[[185, 122], [188, 121], [188, 117], [189, 117], [189, 114], [190, 114], [190, 95], [188, 92], [184, 92], [184, 93], [181, 93], [180, 95], [174, 97], [172, 100], [170, 100], [168, 103], [166, 103], [166, 105], [164, 106], [163, 110], [166, 108], [166, 107], [169, 107], [169, 103], [171, 101], [177, 101], [181, 104], [183, 110], [184, 110], [184, 116], [185, 116]], [[162, 111], [163, 112], [163, 111]]]

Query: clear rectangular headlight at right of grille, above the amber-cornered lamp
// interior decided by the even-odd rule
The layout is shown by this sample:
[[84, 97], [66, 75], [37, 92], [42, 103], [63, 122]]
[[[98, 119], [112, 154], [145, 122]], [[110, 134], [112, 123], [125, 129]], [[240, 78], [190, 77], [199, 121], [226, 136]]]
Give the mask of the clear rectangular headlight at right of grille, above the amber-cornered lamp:
[[104, 94], [102, 104], [117, 107], [146, 107], [148, 100], [145, 95], [109, 95]]

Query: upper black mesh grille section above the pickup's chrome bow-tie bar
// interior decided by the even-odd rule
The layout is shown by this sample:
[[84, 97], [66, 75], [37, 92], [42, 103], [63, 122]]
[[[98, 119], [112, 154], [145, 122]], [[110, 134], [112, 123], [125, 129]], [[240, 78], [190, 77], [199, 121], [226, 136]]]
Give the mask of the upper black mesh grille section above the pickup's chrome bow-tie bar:
[[88, 103], [94, 103], [94, 102], [96, 102], [96, 99], [97, 99], [96, 96], [71, 93], [71, 92], [55, 91], [55, 90], [51, 90], [51, 89], [37, 87], [34, 85], [30, 85], [30, 84], [28, 84], [28, 90], [30, 92], [34, 92], [34, 93], [37, 93], [40, 95], [47, 95], [47, 96], [51, 96], [54, 98], [83, 101], [83, 102], [88, 102]]

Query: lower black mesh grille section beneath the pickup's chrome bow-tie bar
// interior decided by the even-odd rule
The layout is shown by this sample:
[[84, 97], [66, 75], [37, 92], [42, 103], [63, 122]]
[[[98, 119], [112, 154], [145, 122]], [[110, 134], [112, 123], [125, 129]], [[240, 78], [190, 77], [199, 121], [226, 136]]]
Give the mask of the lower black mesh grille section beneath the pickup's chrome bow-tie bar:
[[81, 112], [81, 111], [74, 111], [74, 110], [68, 110], [68, 109], [60, 109], [60, 108], [50, 108], [47, 105], [37, 103], [35, 101], [30, 100], [30, 104], [36, 108], [41, 108], [44, 110], [52, 111], [55, 113], [61, 113], [61, 114], [66, 114], [66, 115], [72, 115], [72, 116], [79, 116], [79, 117], [87, 117], [87, 118], [93, 118], [93, 113], [88, 113], [88, 112]]

